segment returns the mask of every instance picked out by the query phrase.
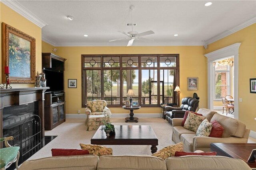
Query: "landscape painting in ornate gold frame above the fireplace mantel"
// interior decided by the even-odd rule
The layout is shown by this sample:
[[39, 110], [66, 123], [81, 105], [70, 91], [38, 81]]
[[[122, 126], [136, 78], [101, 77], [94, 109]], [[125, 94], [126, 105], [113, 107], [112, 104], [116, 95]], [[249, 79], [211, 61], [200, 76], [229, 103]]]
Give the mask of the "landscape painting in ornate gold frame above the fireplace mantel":
[[2, 23], [2, 78], [4, 67], [9, 66], [9, 81], [12, 83], [35, 83], [36, 39]]

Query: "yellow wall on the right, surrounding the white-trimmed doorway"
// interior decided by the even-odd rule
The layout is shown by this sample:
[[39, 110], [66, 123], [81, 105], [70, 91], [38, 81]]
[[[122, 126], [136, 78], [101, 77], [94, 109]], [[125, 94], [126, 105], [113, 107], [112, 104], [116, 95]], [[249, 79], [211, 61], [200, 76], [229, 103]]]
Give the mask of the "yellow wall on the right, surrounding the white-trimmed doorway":
[[242, 43], [238, 63], [238, 97], [242, 98], [242, 102], [239, 102], [239, 120], [244, 122], [247, 128], [256, 131], [256, 94], [250, 93], [249, 90], [249, 79], [256, 78], [256, 24], [208, 45], [205, 54], [234, 43]]

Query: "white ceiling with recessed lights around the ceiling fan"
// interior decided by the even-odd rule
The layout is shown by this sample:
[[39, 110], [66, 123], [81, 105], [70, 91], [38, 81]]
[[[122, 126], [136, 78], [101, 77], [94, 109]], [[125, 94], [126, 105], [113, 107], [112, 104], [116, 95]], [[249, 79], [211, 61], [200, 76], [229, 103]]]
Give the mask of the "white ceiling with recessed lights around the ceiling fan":
[[[54, 46], [126, 46], [118, 32], [155, 34], [133, 46], [205, 45], [256, 22], [256, 0], [2, 0], [42, 27], [42, 40]], [[74, 20], [68, 20], [73, 16]], [[44, 26], [45, 25], [45, 26]], [[87, 34], [88, 37], [83, 35]], [[174, 37], [174, 34], [178, 34]]]

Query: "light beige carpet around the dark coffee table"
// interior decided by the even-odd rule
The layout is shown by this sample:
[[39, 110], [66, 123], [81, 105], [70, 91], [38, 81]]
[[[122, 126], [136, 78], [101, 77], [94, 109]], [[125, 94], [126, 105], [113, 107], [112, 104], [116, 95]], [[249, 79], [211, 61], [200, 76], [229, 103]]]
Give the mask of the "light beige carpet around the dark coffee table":
[[[162, 118], [139, 118], [138, 123], [125, 123], [124, 118], [112, 118], [114, 125], [151, 125], [158, 138], [158, 150], [174, 144], [172, 141], [172, 125]], [[79, 143], [90, 144], [90, 139], [96, 131], [86, 131], [86, 119], [66, 119], [58, 127], [46, 131], [46, 136], [55, 136], [53, 141], [36, 152], [29, 159], [52, 156], [52, 148], [80, 149]], [[151, 155], [151, 145], [105, 145], [113, 149], [113, 155], [147, 154]]]

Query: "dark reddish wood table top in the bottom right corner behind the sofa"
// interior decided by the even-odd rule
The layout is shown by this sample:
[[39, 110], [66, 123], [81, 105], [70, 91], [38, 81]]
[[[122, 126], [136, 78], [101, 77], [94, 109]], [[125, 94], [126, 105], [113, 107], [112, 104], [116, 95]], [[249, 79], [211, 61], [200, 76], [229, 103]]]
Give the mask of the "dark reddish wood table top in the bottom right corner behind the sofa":
[[219, 156], [242, 159], [251, 168], [256, 168], [255, 161], [247, 162], [252, 150], [256, 149], [256, 143], [211, 143], [210, 149]]

